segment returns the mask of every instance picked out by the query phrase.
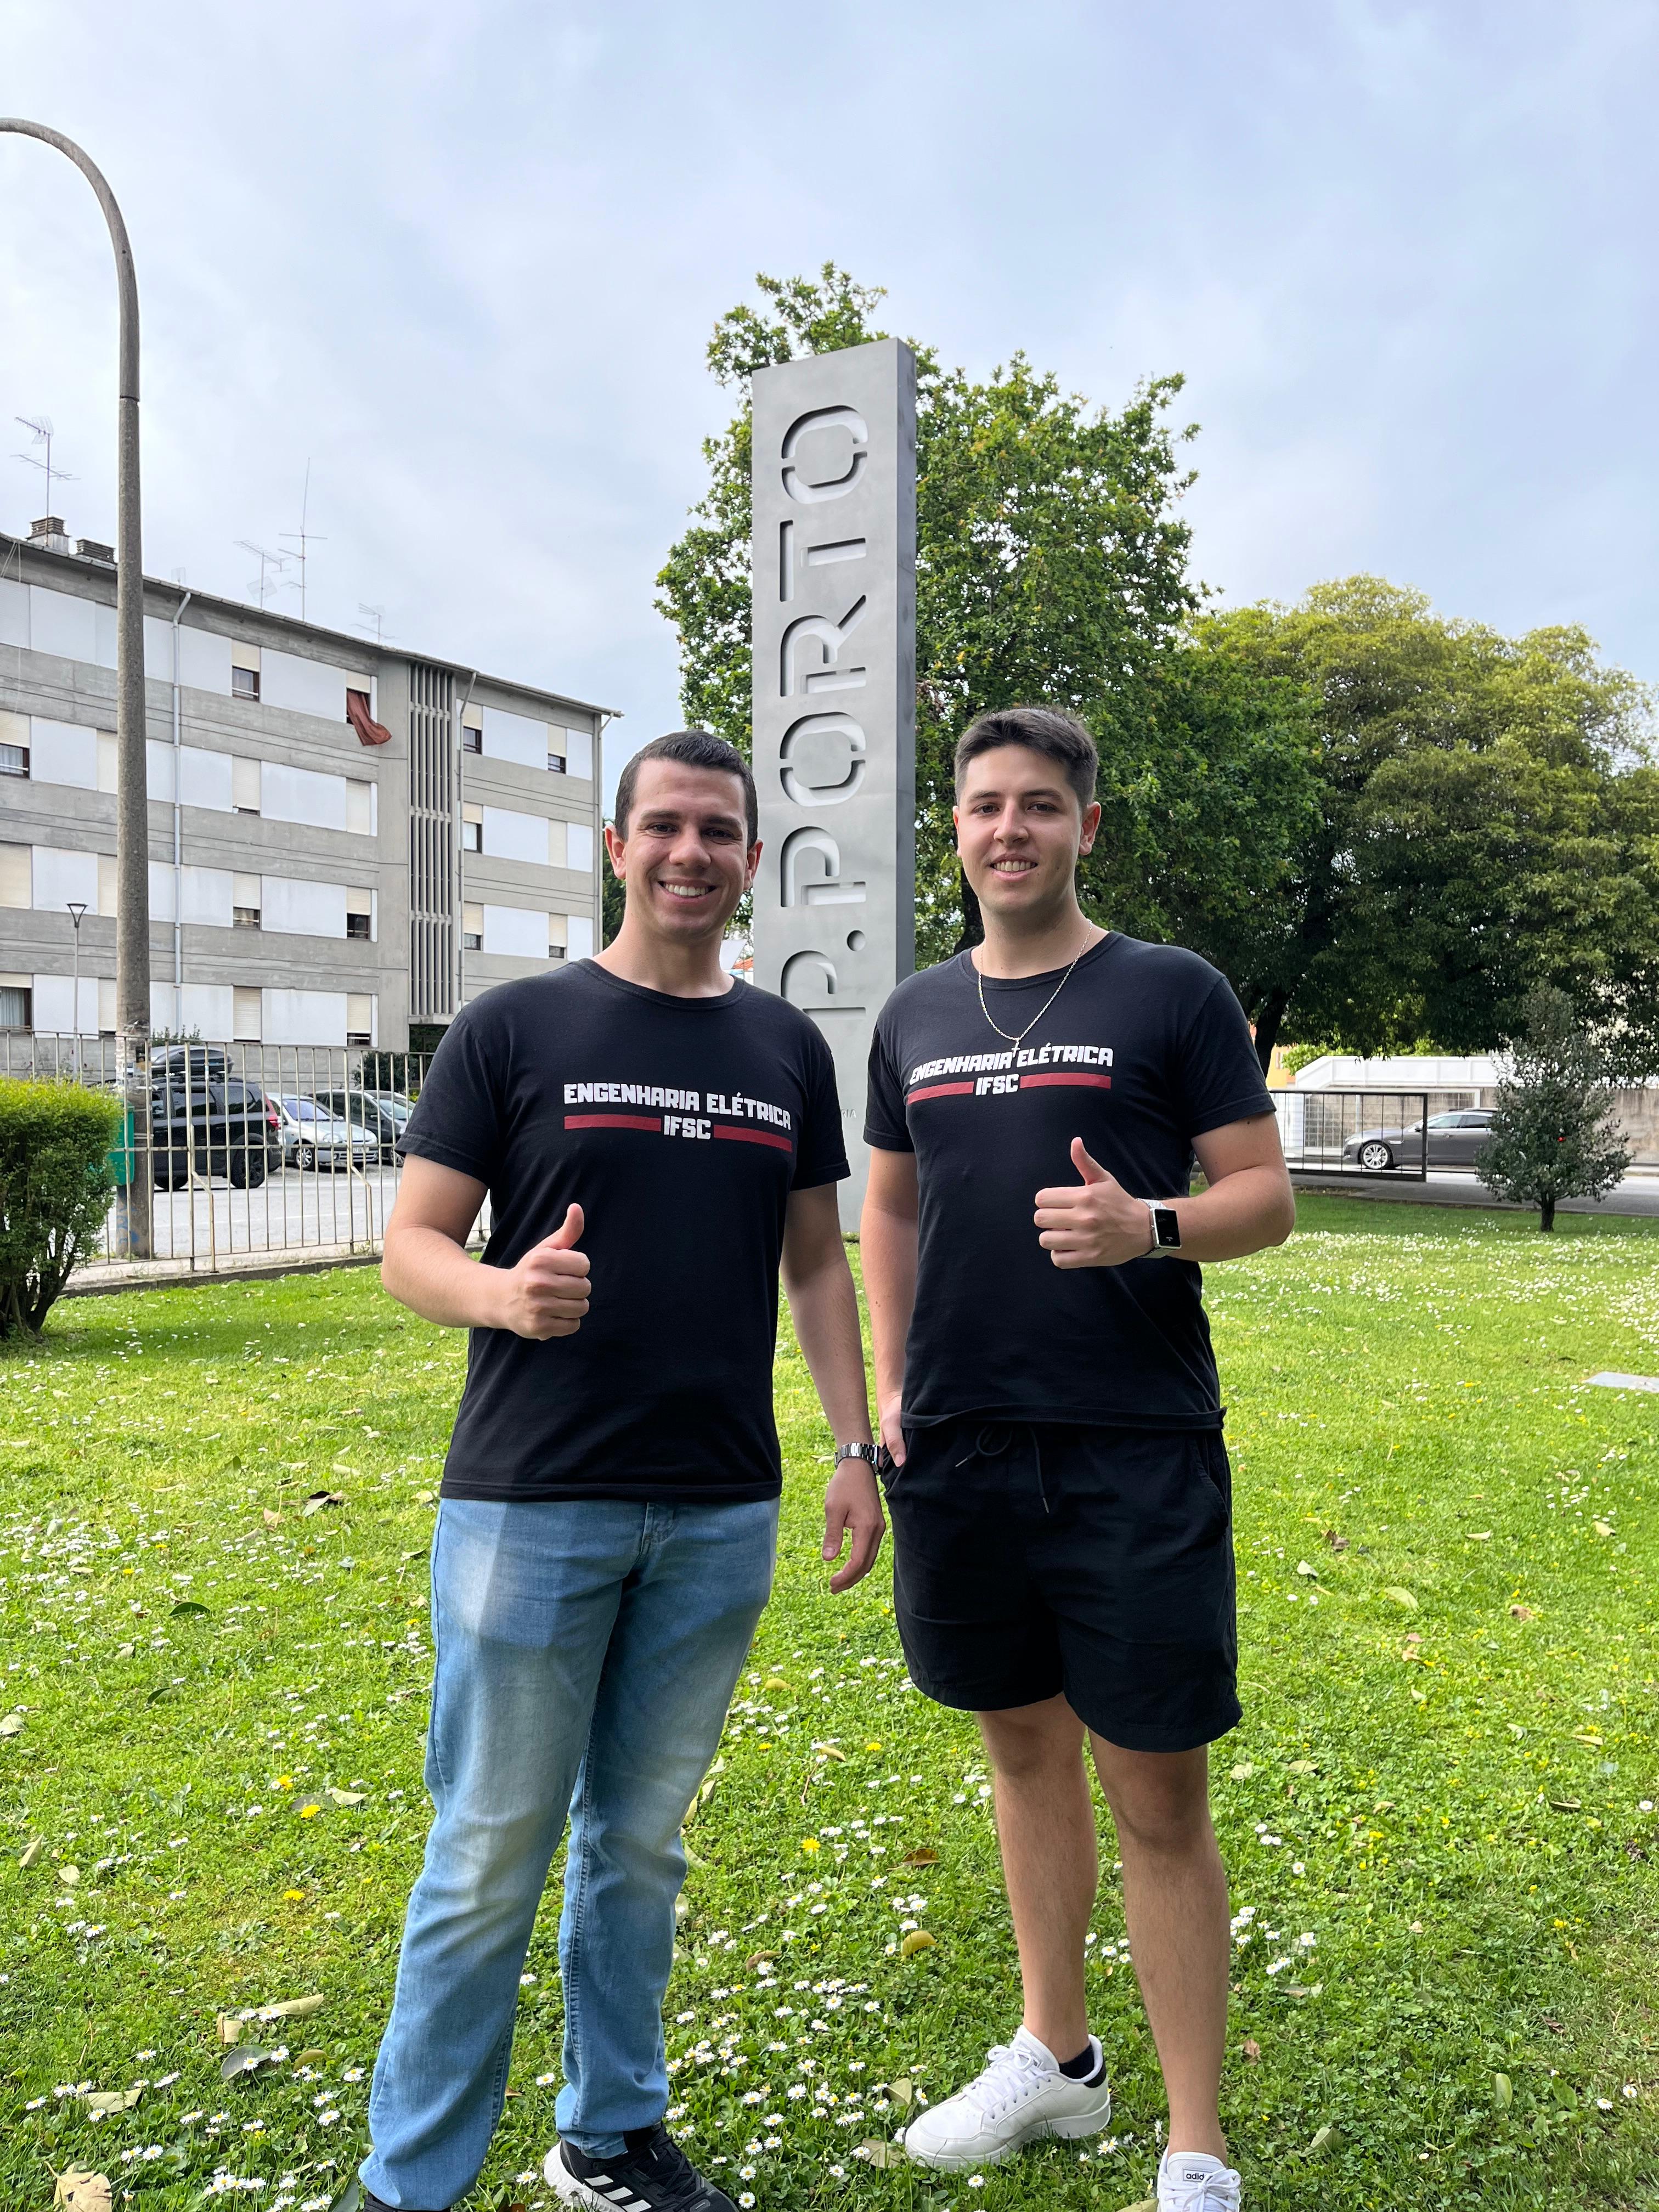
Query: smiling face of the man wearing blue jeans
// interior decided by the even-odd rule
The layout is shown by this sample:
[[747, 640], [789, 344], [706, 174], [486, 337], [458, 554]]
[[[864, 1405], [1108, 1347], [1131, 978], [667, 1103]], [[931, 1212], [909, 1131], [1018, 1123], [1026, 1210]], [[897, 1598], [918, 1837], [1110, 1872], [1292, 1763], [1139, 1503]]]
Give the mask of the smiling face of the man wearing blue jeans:
[[684, 761], [639, 768], [626, 832], [606, 830], [604, 843], [628, 889], [628, 920], [675, 945], [719, 938], [761, 860], [741, 779]]

